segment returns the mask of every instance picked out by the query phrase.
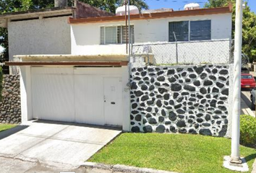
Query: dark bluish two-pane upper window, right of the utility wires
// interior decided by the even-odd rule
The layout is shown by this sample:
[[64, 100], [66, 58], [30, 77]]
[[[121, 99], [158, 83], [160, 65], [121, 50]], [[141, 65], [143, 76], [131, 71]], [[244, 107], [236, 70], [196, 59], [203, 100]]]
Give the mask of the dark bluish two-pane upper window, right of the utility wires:
[[169, 42], [211, 40], [210, 20], [169, 22]]

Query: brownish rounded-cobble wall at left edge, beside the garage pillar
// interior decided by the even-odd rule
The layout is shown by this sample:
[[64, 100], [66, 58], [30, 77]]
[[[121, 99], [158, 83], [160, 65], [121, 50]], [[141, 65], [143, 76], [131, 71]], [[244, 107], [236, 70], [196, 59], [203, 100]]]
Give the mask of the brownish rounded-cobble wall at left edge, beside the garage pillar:
[[4, 75], [3, 86], [0, 123], [21, 123], [20, 76]]

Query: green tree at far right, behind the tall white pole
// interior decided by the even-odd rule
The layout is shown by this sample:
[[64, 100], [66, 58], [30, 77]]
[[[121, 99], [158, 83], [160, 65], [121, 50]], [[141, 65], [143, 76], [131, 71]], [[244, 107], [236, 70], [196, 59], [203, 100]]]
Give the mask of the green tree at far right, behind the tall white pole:
[[[235, 10], [236, 10], [236, 4], [235, 0], [208, 0], [208, 2], [205, 4], [205, 7], [211, 8], [211, 7], [220, 7], [220, 6], [227, 6], [229, 3], [232, 3], [233, 8], [233, 14], [232, 14], [232, 37], [234, 38], [234, 23], [235, 23]], [[249, 9], [249, 6], [247, 5], [247, 2], [245, 2], [245, 9], [243, 10], [243, 46], [242, 51], [243, 53], [247, 54], [249, 56], [250, 61], [256, 61], [256, 14], [254, 12], [251, 12]]]

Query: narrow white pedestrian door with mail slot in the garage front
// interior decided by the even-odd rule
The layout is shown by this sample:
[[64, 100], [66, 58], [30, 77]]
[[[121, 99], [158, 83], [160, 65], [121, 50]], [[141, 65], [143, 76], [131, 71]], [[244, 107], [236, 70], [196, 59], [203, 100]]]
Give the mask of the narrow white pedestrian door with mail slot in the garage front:
[[121, 78], [105, 77], [103, 84], [105, 124], [122, 125]]

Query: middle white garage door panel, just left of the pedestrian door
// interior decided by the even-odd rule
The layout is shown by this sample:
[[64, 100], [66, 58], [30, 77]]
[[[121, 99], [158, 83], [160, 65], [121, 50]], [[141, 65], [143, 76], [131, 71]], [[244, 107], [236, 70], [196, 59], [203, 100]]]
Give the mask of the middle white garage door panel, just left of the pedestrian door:
[[75, 75], [74, 88], [76, 122], [104, 125], [102, 77]]

